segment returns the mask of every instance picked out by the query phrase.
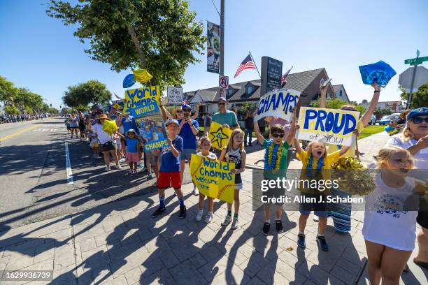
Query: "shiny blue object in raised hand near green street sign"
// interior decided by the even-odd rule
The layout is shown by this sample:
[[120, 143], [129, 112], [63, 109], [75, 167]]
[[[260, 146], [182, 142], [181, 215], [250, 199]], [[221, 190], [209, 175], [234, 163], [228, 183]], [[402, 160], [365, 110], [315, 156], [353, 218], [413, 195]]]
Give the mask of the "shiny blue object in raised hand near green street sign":
[[359, 72], [364, 84], [371, 85], [376, 81], [382, 87], [385, 87], [390, 82], [390, 79], [397, 74], [394, 68], [381, 60], [376, 62], [376, 64], [359, 66]]

